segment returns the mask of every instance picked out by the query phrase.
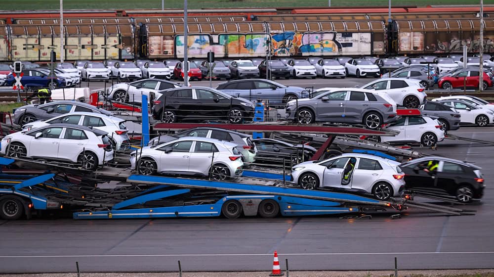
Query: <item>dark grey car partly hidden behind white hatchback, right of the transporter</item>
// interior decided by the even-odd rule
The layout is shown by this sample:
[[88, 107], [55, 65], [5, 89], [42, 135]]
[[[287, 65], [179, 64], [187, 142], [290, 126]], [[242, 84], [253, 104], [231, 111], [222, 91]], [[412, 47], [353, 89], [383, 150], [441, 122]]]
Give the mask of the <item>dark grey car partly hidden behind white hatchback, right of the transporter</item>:
[[425, 116], [437, 118], [445, 131], [453, 131], [460, 128], [460, 114], [445, 104], [427, 102], [425, 105], [420, 106], [420, 113]]

